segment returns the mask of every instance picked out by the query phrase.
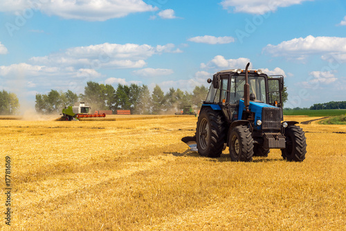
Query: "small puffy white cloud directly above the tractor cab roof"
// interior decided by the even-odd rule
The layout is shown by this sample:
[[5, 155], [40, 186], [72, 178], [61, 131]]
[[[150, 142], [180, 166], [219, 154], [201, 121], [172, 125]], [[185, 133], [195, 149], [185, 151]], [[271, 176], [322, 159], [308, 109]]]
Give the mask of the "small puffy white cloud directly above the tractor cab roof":
[[207, 64], [201, 63], [201, 68], [224, 68], [224, 69], [245, 68], [248, 62], [250, 62], [250, 59], [244, 58], [244, 57], [240, 57], [239, 59], [225, 59], [224, 56], [217, 55], [214, 57], [214, 59], [209, 61]]

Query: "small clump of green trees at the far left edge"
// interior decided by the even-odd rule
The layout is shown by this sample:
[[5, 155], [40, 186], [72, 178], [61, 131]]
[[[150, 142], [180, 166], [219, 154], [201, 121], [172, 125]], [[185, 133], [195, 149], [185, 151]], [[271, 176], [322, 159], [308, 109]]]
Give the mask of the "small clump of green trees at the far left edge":
[[19, 100], [15, 93], [0, 91], [0, 114], [14, 115], [19, 111]]

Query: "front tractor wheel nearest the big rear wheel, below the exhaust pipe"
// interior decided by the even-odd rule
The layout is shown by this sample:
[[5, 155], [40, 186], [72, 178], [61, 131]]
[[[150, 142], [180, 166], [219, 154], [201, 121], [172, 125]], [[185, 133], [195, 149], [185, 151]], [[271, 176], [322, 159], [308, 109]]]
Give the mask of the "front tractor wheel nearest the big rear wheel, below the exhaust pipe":
[[241, 125], [230, 131], [228, 145], [232, 161], [253, 160], [253, 136], [248, 127]]

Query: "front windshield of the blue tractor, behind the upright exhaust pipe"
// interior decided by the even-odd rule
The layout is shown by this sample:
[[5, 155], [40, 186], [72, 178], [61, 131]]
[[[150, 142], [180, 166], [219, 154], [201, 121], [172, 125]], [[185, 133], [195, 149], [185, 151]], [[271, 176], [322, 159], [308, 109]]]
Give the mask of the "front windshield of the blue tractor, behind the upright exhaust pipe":
[[[240, 99], [244, 98], [244, 76], [231, 77], [230, 84], [230, 104], [237, 104]], [[264, 77], [248, 76], [248, 84], [250, 85], [250, 93], [255, 95], [255, 99], [266, 103], [266, 80]]]

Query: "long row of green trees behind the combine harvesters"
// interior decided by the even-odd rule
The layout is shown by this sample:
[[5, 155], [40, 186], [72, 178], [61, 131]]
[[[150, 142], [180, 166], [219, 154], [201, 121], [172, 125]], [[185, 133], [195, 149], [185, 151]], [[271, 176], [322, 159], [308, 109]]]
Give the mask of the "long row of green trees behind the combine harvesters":
[[35, 96], [35, 109], [37, 113], [61, 113], [64, 107], [85, 102], [91, 110], [130, 110], [132, 114], [162, 114], [180, 111], [185, 105], [194, 108], [201, 107], [206, 99], [208, 89], [206, 86], [196, 86], [192, 93], [181, 89], [170, 88], [164, 93], [156, 84], [152, 93], [147, 85], [118, 84], [116, 89], [109, 84], [87, 82], [84, 93], [77, 95], [72, 91], [66, 92], [51, 90], [47, 94]]

